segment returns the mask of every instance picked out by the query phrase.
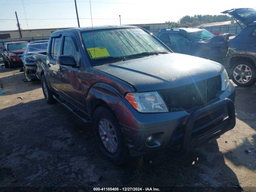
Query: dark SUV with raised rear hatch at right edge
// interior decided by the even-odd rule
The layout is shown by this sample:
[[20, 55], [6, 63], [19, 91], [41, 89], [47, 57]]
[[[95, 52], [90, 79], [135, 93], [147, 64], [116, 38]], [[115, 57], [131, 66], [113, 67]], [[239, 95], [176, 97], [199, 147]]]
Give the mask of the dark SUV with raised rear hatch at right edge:
[[256, 10], [231, 9], [222, 12], [246, 27], [233, 39], [226, 55], [226, 67], [235, 84], [248, 87], [256, 83]]

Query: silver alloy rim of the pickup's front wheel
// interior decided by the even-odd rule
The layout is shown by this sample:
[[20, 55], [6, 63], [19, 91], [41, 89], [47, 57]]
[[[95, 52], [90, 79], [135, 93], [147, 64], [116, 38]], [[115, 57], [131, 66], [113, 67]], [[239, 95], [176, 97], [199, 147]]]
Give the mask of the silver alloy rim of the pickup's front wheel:
[[117, 150], [117, 139], [114, 126], [107, 120], [102, 118], [98, 125], [100, 138], [105, 148], [114, 153]]

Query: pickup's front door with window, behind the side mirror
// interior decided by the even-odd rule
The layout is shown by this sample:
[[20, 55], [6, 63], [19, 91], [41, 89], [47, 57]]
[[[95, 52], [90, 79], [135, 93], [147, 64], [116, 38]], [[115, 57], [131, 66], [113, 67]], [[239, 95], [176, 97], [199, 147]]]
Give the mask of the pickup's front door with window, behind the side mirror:
[[75, 36], [66, 34], [62, 40], [60, 55], [71, 55], [76, 61], [76, 67], [59, 66], [62, 96], [77, 107], [84, 106], [83, 61], [81, 50]]

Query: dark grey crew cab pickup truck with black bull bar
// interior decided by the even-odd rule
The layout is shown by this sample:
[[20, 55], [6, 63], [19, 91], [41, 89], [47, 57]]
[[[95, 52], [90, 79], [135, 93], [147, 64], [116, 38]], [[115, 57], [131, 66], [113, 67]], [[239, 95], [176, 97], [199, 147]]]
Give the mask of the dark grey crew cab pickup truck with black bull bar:
[[184, 153], [235, 126], [224, 67], [173, 53], [142, 28], [58, 30], [41, 65], [46, 101], [93, 122], [100, 150], [116, 163], [162, 148]]

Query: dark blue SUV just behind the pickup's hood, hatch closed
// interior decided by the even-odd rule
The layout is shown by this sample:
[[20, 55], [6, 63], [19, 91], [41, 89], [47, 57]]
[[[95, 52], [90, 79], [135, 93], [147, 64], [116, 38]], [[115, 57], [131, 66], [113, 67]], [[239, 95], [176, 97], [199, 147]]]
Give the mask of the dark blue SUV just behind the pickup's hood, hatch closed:
[[201, 27], [179, 27], [160, 30], [157, 37], [176, 53], [210, 59], [224, 64], [228, 40], [235, 34], [215, 36]]

